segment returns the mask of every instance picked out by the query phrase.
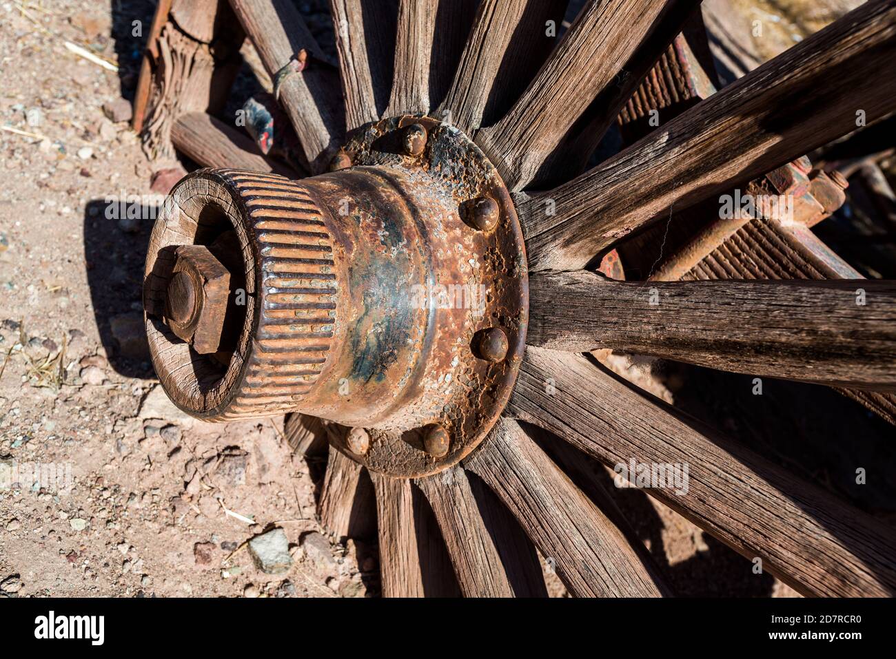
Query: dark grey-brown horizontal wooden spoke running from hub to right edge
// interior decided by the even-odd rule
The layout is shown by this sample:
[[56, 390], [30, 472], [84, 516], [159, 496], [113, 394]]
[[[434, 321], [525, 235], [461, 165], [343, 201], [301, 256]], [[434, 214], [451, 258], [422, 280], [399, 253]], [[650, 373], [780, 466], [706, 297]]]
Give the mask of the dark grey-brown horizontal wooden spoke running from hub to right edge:
[[896, 282], [530, 278], [532, 346], [609, 347], [722, 371], [896, 389]]

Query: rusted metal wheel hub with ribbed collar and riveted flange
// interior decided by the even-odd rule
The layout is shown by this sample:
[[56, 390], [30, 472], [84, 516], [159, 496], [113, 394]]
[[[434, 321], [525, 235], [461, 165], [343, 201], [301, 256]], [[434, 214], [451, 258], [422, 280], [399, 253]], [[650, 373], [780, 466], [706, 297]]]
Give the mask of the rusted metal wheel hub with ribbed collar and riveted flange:
[[[375, 471], [431, 474], [485, 437], [519, 371], [528, 280], [513, 204], [478, 148], [426, 117], [363, 127], [333, 169], [177, 184], [147, 261], [153, 363], [191, 414], [300, 410], [366, 429], [338, 448]], [[183, 244], [229, 261], [231, 297], [244, 282], [214, 355], [159, 313]]]

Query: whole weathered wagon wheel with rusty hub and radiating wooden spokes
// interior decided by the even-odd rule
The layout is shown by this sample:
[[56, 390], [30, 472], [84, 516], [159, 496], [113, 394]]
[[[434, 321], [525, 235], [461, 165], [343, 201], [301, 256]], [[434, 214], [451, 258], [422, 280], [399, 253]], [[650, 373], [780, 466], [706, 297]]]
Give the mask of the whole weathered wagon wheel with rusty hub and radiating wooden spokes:
[[553, 49], [564, 2], [473, 4], [401, 0], [394, 28], [388, 4], [332, 0], [340, 104], [335, 63], [291, 3], [231, 0], [315, 175], [204, 169], [177, 184], [145, 283], [168, 395], [207, 419], [301, 413], [308, 438], [324, 432], [314, 417], [334, 422], [322, 515], [347, 528], [369, 474], [384, 595], [543, 595], [534, 548], [573, 595], [670, 594], [584, 483], [591, 458], [688, 466], [686, 489], [647, 492], [800, 593], [892, 595], [889, 526], [587, 353], [896, 390], [893, 282], [644, 283], [590, 267], [672, 207], [896, 109], [896, 0], [584, 173], [696, 4], [593, 0]]

